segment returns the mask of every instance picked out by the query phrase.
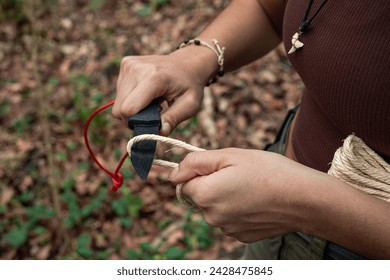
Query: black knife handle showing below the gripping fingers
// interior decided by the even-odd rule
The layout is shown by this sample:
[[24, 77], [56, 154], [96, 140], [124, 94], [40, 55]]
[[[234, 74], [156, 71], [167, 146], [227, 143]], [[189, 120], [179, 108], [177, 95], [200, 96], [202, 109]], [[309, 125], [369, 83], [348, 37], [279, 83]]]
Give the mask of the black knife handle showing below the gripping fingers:
[[127, 120], [127, 126], [134, 130], [135, 126], [158, 126], [161, 128], [160, 102], [154, 99], [147, 107]]

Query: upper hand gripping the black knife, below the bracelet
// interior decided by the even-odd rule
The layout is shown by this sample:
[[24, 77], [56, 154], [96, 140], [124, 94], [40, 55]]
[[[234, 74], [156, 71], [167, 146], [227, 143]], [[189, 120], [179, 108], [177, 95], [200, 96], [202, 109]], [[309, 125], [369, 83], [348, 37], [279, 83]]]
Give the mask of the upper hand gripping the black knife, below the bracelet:
[[201, 107], [204, 86], [217, 68], [210, 50], [195, 50], [188, 46], [169, 55], [124, 57], [113, 116], [127, 125], [129, 117], [161, 97], [169, 107], [162, 113], [160, 134], [167, 136], [180, 122], [195, 115]]

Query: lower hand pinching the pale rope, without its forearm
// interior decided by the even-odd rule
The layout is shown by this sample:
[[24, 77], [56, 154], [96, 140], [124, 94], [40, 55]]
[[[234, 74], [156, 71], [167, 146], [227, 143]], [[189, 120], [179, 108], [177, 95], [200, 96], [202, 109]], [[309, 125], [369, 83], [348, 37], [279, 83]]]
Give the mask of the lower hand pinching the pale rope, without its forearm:
[[254, 242], [302, 230], [305, 186], [320, 174], [275, 153], [229, 148], [188, 154], [170, 179], [185, 183], [208, 224]]

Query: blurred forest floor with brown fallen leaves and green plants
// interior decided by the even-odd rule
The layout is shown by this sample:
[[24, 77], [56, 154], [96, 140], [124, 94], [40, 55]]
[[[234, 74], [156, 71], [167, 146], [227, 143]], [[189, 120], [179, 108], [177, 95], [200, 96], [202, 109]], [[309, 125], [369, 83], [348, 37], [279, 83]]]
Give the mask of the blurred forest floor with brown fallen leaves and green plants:
[[[240, 257], [243, 244], [177, 202], [169, 170], [152, 167], [144, 182], [126, 161], [124, 186], [111, 192], [83, 140], [88, 116], [115, 97], [124, 56], [173, 51], [227, 2], [2, 1], [1, 259]], [[280, 46], [212, 85], [202, 110], [170, 137], [205, 149], [262, 149], [301, 91]], [[114, 170], [129, 130], [107, 110], [89, 135]], [[182, 151], [171, 148], [159, 147], [179, 161]]]

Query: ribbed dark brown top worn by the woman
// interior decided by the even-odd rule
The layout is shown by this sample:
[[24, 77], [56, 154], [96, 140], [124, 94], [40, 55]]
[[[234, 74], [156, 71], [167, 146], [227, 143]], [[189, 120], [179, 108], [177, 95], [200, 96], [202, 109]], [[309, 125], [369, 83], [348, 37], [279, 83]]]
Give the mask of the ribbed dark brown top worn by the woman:
[[[287, 3], [287, 51], [308, 2]], [[292, 134], [296, 159], [326, 172], [342, 140], [355, 133], [389, 161], [390, 0], [328, 0], [300, 39], [303, 48], [288, 55], [306, 87]]]

